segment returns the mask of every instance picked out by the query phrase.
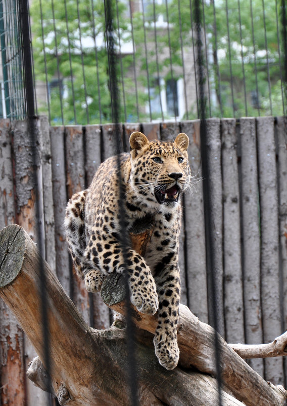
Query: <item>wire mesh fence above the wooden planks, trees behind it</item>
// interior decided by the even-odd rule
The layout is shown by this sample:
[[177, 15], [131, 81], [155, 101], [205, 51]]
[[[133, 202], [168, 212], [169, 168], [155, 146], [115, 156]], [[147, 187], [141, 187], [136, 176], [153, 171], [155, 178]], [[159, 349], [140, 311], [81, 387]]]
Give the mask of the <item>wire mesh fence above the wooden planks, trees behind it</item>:
[[[284, 1], [192, 0], [111, 3], [120, 120], [285, 115]], [[104, 3], [33, 0], [30, 7], [39, 113], [51, 124], [112, 122]], [[0, 3], [2, 117], [24, 117], [19, 6]], [[198, 42], [203, 58], [198, 57]]]

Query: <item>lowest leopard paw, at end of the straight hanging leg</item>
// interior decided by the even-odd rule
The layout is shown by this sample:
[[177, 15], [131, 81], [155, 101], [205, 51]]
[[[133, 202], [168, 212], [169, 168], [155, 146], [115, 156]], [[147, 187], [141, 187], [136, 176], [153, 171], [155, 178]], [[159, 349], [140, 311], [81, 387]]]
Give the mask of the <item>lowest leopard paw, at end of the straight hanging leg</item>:
[[166, 334], [159, 334], [154, 337], [154, 345], [159, 363], [167, 370], [173, 370], [179, 359], [179, 348], [176, 338], [170, 339]]

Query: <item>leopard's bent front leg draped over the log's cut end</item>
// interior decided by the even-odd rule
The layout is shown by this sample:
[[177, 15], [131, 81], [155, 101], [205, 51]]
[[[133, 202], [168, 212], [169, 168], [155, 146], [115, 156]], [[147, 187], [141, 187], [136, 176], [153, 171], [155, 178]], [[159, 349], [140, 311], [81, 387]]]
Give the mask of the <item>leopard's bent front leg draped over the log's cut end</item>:
[[123, 253], [119, 241], [113, 237], [104, 235], [103, 238], [103, 234], [101, 239], [98, 237], [97, 231], [93, 231], [86, 249], [87, 260], [97, 264], [105, 274], [126, 271], [131, 303], [141, 313], [155, 314], [158, 309], [156, 284], [145, 260], [132, 249]]

